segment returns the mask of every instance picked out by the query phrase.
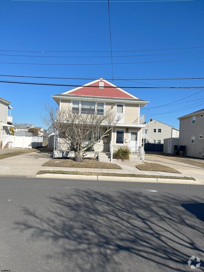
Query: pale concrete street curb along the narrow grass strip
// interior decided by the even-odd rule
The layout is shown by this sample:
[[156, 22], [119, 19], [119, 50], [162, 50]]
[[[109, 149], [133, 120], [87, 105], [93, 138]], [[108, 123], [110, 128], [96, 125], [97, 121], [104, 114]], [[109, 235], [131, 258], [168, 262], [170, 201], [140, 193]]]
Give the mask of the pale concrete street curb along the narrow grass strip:
[[199, 184], [204, 183], [192, 179], [162, 179], [162, 178], [132, 178], [132, 177], [114, 177], [114, 176], [88, 176], [88, 175], [71, 175], [71, 174], [40, 174], [36, 178], [55, 178], [55, 179], [91, 179], [98, 181], [126, 181], [126, 182], [156, 182], [156, 183], [178, 183], [178, 184]]

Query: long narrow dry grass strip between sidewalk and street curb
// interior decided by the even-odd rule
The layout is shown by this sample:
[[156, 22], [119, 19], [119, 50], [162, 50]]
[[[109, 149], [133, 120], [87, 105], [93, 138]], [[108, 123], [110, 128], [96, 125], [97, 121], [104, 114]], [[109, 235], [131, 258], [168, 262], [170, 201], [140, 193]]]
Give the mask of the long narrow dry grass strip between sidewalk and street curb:
[[78, 171], [51, 171], [40, 170], [37, 175], [40, 174], [69, 174], [69, 175], [86, 175], [86, 176], [111, 176], [111, 177], [129, 177], [129, 178], [156, 178], [156, 179], [189, 179], [188, 177], [171, 177], [171, 176], [156, 176], [156, 175], [136, 175], [136, 174], [117, 174], [117, 173], [95, 173], [95, 172], [78, 172]]

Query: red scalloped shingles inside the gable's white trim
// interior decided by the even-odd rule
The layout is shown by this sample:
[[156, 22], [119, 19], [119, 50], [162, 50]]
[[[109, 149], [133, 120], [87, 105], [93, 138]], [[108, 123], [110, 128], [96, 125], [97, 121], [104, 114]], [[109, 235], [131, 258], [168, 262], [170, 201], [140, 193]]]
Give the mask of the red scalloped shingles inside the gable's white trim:
[[119, 97], [119, 98], [134, 98], [131, 95], [122, 92], [117, 88], [105, 88], [107, 86], [112, 86], [104, 82], [104, 88], [92, 88], [91, 86], [99, 86], [99, 82], [104, 82], [103, 80], [90, 84], [87, 87], [79, 88], [78, 90], [72, 91], [67, 94], [76, 94], [76, 95], [89, 95], [89, 96], [101, 96], [101, 97]]

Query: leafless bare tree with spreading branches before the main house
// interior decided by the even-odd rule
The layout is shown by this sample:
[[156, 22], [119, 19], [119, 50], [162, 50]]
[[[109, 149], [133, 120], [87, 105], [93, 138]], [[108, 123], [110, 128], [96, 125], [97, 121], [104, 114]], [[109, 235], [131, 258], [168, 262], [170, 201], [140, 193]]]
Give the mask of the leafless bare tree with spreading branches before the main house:
[[41, 120], [47, 126], [52, 125], [70, 150], [74, 151], [77, 162], [82, 161], [84, 151], [97, 144], [100, 138], [108, 136], [121, 119], [121, 115], [115, 114], [113, 106], [104, 110], [94, 100], [81, 109], [73, 106], [59, 109], [49, 102], [42, 104], [46, 115], [41, 114]]

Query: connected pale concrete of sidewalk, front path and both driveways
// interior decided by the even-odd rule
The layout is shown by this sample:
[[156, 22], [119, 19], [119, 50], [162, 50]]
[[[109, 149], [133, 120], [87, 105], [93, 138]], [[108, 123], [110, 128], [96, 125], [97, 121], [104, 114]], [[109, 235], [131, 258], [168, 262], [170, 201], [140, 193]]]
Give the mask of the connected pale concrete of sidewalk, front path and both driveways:
[[[52, 152], [31, 152], [19, 156], [9, 157], [0, 160], [0, 175], [10, 176], [35, 176], [40, 170], [60, 170], [60, 171], [78, 171], [78, 172], [94, 172], [94, 173], [121, 173], [121, 174], [144, 174], [157, 176], [177, 176], [177, 177], [193, 177], [196, 180], [204, 181], [204, 169], [170, 161], [169, 159], [151, 158], [148, 162], [158, 162], [177, 169], [182, 174], [165, 173], [156, 171], [141, 171], [135, 167], [136, 163], [121, 162], [117, 163], [122, 167], [120, 169], [102, 169], [102, 168], [70, 168], [70, 167], [48, 167], [42, 166], [52, 157]], [[177, 165], [178, 163], [178, 165]], [[171, 165], [170, 165], [171, 164]], [[172, 166], [174, 165], [174, 167]], [[178, 167], [177, 167], [178, 166]], [[182, 168], [182, 169], [180, 169]], [[183, 169], [184, 168], [184, 169]], [[182, 172], [182, 171], [183, 172]], [[185, 173], [185, 171], [187, 173]], [[189, 173], [190, 172], [190, 173]]]

